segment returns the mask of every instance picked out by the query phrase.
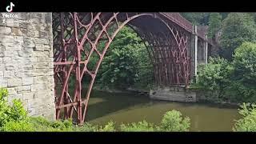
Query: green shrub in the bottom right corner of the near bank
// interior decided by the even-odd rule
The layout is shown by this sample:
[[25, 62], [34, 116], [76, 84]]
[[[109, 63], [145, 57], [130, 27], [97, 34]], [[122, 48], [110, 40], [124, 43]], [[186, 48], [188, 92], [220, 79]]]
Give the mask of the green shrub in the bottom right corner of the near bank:
[[242, 114], [242, 118], [235, 122], [234, 131], [256, 131], [256, 105], [243, 103], [239, 114]]

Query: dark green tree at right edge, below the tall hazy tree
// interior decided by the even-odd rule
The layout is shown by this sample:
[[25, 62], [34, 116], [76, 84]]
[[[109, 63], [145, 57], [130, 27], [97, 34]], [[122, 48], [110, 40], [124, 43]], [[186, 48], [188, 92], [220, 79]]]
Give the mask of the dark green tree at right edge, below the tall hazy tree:
[[234, 51], [233, 92], [242, 102], [256, 101], [256, 43], [244, 42]]

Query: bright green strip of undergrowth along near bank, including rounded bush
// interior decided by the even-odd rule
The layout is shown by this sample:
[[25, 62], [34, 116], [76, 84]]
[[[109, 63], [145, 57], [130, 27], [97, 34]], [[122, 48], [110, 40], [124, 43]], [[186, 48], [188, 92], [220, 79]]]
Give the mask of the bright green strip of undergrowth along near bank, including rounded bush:
[[122, 124], [116, 127], [110, 121], [105, 126], [92, 125], [86, 122], [83, 126], [74, 125], [71, 120], [48, 121], [42, 117], [29, 117], [20, 100], [14, 99], [12, 105], [6, 100], [8, 92], [0, 89], [0, 131], [188, 131], [190, 118], [182, 118], [177, 110], [166, 112], [159, 125], [146, 121]]

